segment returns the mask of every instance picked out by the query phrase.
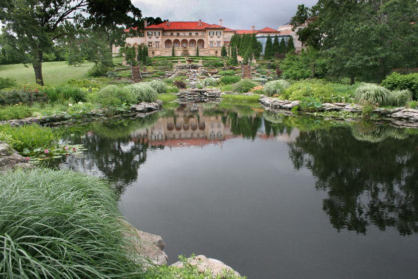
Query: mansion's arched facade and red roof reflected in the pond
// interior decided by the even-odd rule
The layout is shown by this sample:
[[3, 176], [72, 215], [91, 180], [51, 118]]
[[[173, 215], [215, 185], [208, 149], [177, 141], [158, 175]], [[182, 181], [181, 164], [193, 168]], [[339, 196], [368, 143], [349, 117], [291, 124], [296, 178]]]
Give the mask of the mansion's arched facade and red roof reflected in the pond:
[[160, 118], [157, 123], [137, 130], [135, 137], [147, 138], [152, 145], [164, 146], [204, 146], [217, 144], [227, 138], [235, 137], [230, 130], [229, 119], [222, 121], [222, 116], [204, 115], [202, 106], [194, 111], [178, 110], [174, 117]]

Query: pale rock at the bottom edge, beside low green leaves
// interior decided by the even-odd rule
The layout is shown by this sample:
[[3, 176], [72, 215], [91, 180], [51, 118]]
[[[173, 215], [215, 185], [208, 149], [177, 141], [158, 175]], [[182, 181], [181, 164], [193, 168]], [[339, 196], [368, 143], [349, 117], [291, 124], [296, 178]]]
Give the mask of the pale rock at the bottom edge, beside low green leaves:
[[[207, 258], [204, 255], [190, 257], [187, 259], [187, 262], [191, 265], [196, 265], [200, 273], [203, 273], [206, 270], [211, 271], [213, 273], [213, 278], [218, 275], [221, 276], [221, 278], [225, 278], [222, 276], [222, 274], [224, 274], [224, 269], [227, 271], [232, 271], [232, 273], [236, 276], [240, 276], [238, 272], [236, 272], [234, 269], [232, 269], [232, 267], [226, 265], [222, 261], [213, 258]], [[178, 261], [173, 263], [171, 266], [183, 268], [183, 262]]]

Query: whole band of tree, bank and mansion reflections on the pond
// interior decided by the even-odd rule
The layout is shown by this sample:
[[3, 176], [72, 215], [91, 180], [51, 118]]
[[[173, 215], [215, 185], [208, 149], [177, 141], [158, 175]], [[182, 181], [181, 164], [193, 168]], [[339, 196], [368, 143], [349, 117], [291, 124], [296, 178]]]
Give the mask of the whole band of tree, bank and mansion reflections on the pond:
[[286, 142], [288, 154], [277, 156], [288, 157], [296, 171], [312, 173], [316, 189], [327, 193], [322, 209], [338, 231], [365, 234], [375, 226], [395, 228], [401, 235], [418, 232], [418, 136], [413, 129], [189, 104], [63, 131], [63, 139], [87, 148], [83, 158], [70, 158], [66, 165], [111, 179], [119, 194], [138, 181], [149, 150], [205, 148], [236, 137], [247, 139], [249, 149], [257, 139]]

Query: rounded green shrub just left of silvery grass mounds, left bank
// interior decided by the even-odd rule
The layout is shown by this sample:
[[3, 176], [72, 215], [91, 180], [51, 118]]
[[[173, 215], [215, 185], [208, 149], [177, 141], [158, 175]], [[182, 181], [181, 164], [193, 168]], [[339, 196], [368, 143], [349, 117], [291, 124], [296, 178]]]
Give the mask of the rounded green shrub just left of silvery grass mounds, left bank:
[[122, 103], [133, 104], [136, 102], [136, 97], [126, 88], [121, 88], [116, 85], [109, 85], [96, 93], [96, 102], [103, 107], [118, 106]]

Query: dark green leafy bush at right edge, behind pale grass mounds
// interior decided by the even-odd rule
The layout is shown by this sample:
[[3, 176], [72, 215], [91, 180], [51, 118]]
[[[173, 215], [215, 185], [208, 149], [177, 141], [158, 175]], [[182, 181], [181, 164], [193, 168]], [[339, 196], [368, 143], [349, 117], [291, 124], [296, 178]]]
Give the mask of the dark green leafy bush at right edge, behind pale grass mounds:
[[401, 75], [391, 73], [381, 83], [381, 86], [389, 90], [409, 90], [413, 97], [418, 98], [418, 73]]

